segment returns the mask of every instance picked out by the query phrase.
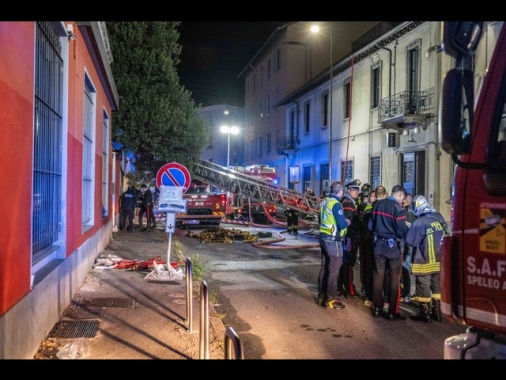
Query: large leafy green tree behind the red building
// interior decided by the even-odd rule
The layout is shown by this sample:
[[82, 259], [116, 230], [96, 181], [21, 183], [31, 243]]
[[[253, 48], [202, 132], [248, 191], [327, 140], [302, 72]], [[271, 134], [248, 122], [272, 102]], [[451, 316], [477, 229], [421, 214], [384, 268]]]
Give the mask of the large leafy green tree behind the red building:
[[179, 21], [106, 22], [119, 94], [113, 136], [134, 154], [135, 169], [156, 175], [167, 162], [200, 158], [208, 126], [179, 83]]

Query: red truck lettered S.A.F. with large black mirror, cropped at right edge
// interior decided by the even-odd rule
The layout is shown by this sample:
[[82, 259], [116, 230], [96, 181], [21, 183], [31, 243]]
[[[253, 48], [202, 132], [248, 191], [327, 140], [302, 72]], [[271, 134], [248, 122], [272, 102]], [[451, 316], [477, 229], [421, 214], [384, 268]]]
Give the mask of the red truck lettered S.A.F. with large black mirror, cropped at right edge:
[[[447, 319], [469, 326], [445, 340], [445, 359], [506, 359], [506, 28], [491, 24], [443, 26], [454, 67], [443, 83], [440, 144], [456, 167], [441, 306]], [[488, 63], [483, 81], [468, 68], [477, 52]]]

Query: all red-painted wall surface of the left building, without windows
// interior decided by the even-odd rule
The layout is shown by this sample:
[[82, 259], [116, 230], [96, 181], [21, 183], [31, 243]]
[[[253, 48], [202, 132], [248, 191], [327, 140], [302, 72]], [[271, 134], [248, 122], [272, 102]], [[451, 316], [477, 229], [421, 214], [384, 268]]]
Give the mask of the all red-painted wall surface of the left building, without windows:
[[[102, 88], [97, 69], [75, 22], [75, 40], [69, 42], [68, 123], [66, 131], [66, 256], [70, 256], [112, 219], [113, 153], [109, 144], [108, 216], [102, 219], [102, 125], [104, 110], [112, 121], [111, 105]], [[34, 115], [34, 22], [0, 22], [0, 174], [3, 206], [0, 207], [0, 316], [30, 292], [32, 275], [32, 165]], [[96, 90], [95, 209], [94, 226], [82, 233], [82, 152], [85, 72]], [[65, 131], [65, 130], [64, 130]], [[109, 134], [112, 124], [109, 125]], [[111, 139], [111, 137], [109, 137]], [[110, 142], [110, 141], [109, 141]], [[118, 155], [119, 157], [119, 155]], [[117, 175], [121, 170], [116, 165]], [[116, 202], [117, 202], [116, 196]], [[117, 211], [117, 209], [116, 209]]]

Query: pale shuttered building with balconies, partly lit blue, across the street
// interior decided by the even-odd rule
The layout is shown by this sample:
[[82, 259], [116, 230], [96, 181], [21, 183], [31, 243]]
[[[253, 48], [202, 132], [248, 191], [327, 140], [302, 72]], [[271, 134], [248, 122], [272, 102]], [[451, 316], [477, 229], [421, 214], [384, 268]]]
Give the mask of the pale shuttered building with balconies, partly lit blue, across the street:
[[[454, 164], [438, 144], [438, 115], [444, 73], [454, 63], [442, 52], [443, 23], [372, 25], [355, 35], [349, 54], [336, 57], [330, 70], [328, 50], [335, 49], [347, 33], [335, 24], [320, 24], [332, 43], [327, 52], [312, 49], [313, 67], [317, 66], [315, 54], [324, 54], [327, 61], [315, 78], [306, 82], [304, 72], [275, 66], [285, 73], [275, 85], [270, 108], [275, 117], [269, 125], [265, 116], [257, 117], [260, 105], [265, 104], [256, 95], [256, 88], [262, 86], [256, 77], [261, 71], [258, 65], [285, 49], [281, 57], [286, 57], [287, 65], [304, 67], [303, 57], [294, 55], [301, 47], [287, 43], [295, 37], [279, 37], [275, 31], [266, 44], [270, 48], [264, 45], [250, 62], [255, 70], [251, 66], [243, 70], [251, 135], [246, 139], [246, 163], [256, 155], [256, 161], [260, 157], [261, 163], [277, 166], [283, 173], [281, 185], [299, 192], [311, 187], [321, 194], [332, 180], [347, 183], [355, 178], [373, 188], [383, 185], [388, 191], [402, 184], [412, 194], [425, 195], [450, 221]], [[486, 24], [486, 42], [469, 62], [477, 86], [486, 73], [491, 50], [486, 44], [493, 43], [497, 24]], [[290, 27], [308, 29], [305, 23]], [[290, 86], [282, 88], [287, 83]], [[275, 141], [274, 151], [272, 147], [268, 151], [269, 136]]]

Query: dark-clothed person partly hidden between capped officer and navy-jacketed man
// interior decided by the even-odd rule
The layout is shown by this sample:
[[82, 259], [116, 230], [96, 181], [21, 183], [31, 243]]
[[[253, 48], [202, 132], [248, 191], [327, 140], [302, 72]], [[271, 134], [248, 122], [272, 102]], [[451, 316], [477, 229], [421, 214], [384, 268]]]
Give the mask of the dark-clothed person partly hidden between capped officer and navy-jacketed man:
[[364, 305], [372, 306], [372, 280], [374, 273], [374, 236], [367, 225], [372, 215], [372, 208], [376, 202], [376, 191], [371, 191], [367, 199], [358, 206], [358, 213], [362, 222], [360, 232], [360, 278], [364, 292]]

